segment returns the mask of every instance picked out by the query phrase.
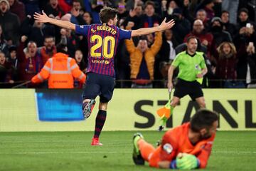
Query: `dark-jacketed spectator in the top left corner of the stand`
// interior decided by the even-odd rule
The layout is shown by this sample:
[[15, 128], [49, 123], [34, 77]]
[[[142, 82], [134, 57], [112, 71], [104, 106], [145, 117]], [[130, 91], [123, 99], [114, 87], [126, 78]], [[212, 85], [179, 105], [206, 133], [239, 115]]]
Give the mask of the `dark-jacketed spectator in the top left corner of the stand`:
[[2, 26], [4, 36], [10, 44], [18, 43], [20, 21], [16, 14], [11, 13], [9, 1], [0, 0], [0, 24]]

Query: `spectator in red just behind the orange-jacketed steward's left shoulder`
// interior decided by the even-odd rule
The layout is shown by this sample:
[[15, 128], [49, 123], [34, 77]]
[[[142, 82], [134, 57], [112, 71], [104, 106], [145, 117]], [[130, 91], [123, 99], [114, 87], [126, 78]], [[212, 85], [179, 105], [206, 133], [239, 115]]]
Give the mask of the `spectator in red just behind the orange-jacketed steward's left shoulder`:
[[38, 49], [40, 51], [43, 65], [46, 63], [48, 58], [52, 58], [57, 53], [55, 46], [55, 39], [53, 36], [45, 36], [44, 46]]

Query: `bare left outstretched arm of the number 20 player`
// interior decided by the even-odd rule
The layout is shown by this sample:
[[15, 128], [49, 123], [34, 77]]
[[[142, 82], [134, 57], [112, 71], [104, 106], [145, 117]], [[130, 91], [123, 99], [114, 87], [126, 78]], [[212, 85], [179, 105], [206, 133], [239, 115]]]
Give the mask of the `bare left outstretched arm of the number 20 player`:
[[50, 23], [50, 24], [54, 24], [56, 26], [60, 26], [62, 28], [68, 28], [68, 29], [75, 30], [75, 24], [70, 23], [69, 21], [52, 19], [52, 18], [48, 17], [44, 11], [42, 11], [42, 14], [39, 14], [36, 12], [33, 16], [36, 21], [39, 21], [41, 23]]

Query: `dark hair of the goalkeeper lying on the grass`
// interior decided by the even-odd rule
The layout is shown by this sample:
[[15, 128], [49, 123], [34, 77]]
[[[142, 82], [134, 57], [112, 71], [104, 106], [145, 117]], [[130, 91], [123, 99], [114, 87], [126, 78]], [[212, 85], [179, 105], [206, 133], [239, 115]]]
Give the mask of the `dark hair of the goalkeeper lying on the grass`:
[[218, 120], [218, 113], [215, 111], [201, 109], [191, 118], [191, 130], [199, 132], [203, 128], [210, 128]]

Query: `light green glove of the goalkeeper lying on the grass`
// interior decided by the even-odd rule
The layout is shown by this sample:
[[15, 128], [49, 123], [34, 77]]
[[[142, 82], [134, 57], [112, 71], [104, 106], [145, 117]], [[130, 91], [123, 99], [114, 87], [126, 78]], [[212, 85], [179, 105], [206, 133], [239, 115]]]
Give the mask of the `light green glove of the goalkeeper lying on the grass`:
[[192, 170], [198, 167], [198, 159], [195, 155], [179, 153], [176, 157], [176, 167], [180, 170]]

